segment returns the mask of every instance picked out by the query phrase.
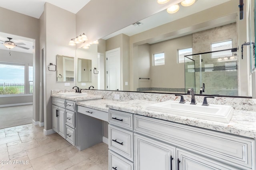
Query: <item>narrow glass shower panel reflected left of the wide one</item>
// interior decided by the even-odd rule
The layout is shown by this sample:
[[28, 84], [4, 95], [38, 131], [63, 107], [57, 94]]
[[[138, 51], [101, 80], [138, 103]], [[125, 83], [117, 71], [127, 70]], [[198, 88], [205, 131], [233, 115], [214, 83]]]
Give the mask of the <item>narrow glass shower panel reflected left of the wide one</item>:
[[[191, 56], [190, 56], [191, 57]], [[193, 58], [197, 58], [197, 56], [193, 56]], [[184, 70], [185, 70], [185, 93], [189, 88], [196, 87], [195, 80], [195, 61], [188, 57], [184, 57]]]

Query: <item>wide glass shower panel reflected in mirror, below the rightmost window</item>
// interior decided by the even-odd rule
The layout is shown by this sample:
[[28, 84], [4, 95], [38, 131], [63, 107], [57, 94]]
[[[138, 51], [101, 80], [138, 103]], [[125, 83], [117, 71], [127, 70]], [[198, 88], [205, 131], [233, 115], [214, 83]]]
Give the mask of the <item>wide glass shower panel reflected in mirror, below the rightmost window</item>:
[[[185, 86], [195, 82], [196, 94], [238, 96], [238, 66], [236, 49], [227, 49], [192, 55], [195, 80], [185, 73]], [[185, 70], [186, 72], [186, 70]], [[189, 80], [191, 82], [189, 82]], [[203, 85], [204, 84], [204, 85]]]

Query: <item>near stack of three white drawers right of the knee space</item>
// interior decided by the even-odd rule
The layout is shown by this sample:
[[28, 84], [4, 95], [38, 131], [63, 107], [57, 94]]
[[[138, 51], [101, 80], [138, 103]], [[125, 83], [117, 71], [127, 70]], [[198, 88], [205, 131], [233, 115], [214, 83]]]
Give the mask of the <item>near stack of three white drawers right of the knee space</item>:
[[109, 170], [133, 170], [133, 115], [110, 109], [109, 123]]

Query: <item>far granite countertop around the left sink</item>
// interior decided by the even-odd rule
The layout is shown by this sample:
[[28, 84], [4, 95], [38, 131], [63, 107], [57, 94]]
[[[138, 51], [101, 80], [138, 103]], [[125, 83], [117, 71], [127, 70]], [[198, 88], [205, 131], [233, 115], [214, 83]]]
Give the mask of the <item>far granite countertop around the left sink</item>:
[[52, 94], [52, 97], [72, 100], [72, 101], [82, 101], [82, 100], [93, 100], [93, 99], [102, 99], [102, 96], [92, 95], [92, 94], [85, 94], [81, 96], [62, 96], [58, 95], [58, 93]]

